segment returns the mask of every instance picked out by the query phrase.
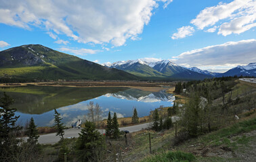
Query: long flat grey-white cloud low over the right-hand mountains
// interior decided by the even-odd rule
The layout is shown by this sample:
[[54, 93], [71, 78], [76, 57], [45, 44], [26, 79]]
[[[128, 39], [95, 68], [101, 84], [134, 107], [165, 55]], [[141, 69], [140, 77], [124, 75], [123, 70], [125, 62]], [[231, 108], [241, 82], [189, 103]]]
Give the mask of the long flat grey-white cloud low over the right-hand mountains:
[[179, 65], [196, 67], [235, 66], [256, 61], [256, 40], [242, 40], [194, 49], [173, 57]]

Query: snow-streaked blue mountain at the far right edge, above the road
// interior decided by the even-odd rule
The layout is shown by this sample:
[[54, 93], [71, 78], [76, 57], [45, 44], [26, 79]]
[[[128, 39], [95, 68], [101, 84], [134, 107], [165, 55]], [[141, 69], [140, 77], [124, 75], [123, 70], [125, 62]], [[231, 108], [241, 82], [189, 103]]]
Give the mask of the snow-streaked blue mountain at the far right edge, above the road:
[[217, 75], [221, 76], [254, 76], [256, 77], [256, 63], [249, 63], [248, 65], [238, 65], [236, 68], [232, 68], [223, 74]]

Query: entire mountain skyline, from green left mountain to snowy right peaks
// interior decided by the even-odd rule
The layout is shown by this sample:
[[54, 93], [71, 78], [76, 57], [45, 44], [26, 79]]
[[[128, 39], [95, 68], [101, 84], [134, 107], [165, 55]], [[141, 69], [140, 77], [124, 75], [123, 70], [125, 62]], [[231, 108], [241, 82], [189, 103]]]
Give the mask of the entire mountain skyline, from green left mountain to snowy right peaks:
[[256, 76], [256, 63], [223, 74], [186, 68], [170, 60], [136, 59], [100, 65], [42, 45], [0, 51], [0, 78], [37, 80], [202, 80], [222, 76]]

